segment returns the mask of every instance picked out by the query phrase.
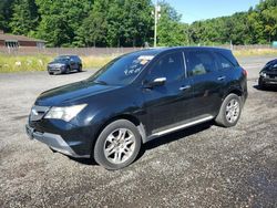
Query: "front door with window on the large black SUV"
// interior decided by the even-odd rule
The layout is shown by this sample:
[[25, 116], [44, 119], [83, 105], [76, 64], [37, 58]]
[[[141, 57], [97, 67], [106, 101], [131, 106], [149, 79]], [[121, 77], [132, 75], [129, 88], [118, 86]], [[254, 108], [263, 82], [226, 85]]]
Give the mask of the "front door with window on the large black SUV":
[[150, 134], [179, 125], [192, 116], [191, 81], [186, 79], [183, 52], [171, 52], [158, 59], [148, 70], [144, 83], [165, 77], [162, 86], [143, 89]]

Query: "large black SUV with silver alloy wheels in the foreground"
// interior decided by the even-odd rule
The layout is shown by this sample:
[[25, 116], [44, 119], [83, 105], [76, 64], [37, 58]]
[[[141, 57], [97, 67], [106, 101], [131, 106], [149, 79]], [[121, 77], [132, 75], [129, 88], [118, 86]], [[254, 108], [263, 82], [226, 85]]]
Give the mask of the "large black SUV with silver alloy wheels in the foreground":
[[229, 50], [151, 49], [42, 93], [25, 127], [54, 150], [119, 169], [153, 138], [212, 119], [235, 126], [246, 97], [246, 71]]

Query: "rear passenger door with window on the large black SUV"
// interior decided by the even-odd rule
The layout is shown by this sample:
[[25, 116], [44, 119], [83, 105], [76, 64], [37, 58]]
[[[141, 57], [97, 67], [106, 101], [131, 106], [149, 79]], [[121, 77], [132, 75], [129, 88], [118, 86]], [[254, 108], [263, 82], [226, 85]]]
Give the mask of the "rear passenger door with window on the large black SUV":
[[187, 51], [186, 58], [187, 75], [193, 83], [194, 116], [215, 116], [220, 107], [220, 89], [226, 80], [218, 71], [216, 56], [212, 51], [201, 49]]

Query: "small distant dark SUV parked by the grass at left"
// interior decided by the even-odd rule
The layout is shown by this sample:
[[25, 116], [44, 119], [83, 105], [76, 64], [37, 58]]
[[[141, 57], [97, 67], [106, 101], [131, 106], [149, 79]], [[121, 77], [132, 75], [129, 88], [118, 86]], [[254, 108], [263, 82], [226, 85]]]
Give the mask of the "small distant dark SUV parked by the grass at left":
[[60, 55], [48, 64], [49, 74], [68, 74], [82, 71], [82, 60], [78, 55]]

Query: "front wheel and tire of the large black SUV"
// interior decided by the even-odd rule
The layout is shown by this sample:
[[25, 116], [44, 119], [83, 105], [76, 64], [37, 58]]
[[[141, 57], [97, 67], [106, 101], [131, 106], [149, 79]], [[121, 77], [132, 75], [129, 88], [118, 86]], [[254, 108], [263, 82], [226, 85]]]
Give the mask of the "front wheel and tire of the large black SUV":
[[117, 119], [99, 135], [93, 149], [95, 162], [106, 169], [121, 169], [134, 162], [141, 149], [141, 135], [136, 126]]

